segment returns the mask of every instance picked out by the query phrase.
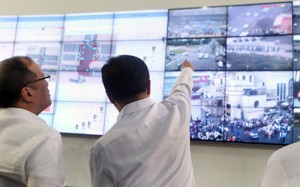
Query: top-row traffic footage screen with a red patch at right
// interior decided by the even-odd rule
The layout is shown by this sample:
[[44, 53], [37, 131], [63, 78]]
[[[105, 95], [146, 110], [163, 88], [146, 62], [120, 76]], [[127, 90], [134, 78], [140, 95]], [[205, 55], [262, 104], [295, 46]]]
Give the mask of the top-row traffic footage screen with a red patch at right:
[[228, 7], [228, 36], [292, 34], [291, 2]]

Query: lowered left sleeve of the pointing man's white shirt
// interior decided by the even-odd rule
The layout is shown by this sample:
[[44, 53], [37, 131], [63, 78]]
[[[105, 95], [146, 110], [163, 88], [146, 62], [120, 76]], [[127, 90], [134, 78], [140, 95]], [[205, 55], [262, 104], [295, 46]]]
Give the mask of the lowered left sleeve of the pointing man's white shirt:
[[114, 182], [105, 169], [105, 163], [100, 158], [100, 154], [97, 151], [97, 144], [95, 144], [90, 151], [90, 172], [92, 179], [92, 187], [112, 187], [115, 186]]

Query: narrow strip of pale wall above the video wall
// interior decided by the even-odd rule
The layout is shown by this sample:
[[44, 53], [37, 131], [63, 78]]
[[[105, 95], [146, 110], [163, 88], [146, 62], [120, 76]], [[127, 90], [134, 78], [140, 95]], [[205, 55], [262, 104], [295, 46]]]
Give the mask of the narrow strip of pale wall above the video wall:
[[287, 0], [2, 0], [0, 15], [147, 10], [284, 1]]

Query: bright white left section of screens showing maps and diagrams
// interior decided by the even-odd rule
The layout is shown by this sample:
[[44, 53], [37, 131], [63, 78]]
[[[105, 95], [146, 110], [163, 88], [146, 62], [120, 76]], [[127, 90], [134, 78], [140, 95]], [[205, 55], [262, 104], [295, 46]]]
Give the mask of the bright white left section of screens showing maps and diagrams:
[[118, 114], [101, 80], [110, 57], [143, 59], [153, 78], [151, 97], [162, 100], [167, 18], [167, 10], [0, 17], [0, 60], [30, 56], [51, 75], [52, 104], [40, 114], [50, 126], [103, 135]]

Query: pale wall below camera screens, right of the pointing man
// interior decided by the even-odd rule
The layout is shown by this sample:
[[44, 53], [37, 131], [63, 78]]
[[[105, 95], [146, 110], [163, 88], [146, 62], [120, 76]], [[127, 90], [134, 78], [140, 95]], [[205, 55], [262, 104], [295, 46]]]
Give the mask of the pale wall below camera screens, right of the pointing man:
[[255, 187], [279, 146], [192, 143], [197, 187]]

